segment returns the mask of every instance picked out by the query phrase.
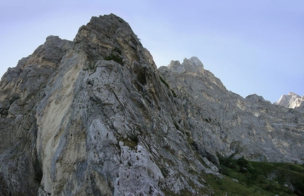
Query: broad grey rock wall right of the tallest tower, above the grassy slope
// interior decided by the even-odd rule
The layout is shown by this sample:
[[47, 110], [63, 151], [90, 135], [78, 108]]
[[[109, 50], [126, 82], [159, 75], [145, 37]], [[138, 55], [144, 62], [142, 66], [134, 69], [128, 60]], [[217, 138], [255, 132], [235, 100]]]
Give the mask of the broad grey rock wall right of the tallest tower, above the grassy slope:
[[261, 96], [227, 91], [197, 57], [160, 67], [175, 92], [189, 134], [203, 156], [303, 163], [303, 114]]

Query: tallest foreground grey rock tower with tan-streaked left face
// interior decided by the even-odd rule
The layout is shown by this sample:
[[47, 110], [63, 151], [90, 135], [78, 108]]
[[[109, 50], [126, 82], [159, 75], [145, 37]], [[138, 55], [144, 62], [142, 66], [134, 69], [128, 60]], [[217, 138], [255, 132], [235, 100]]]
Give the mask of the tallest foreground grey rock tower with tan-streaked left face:
[[45, 192], [165, 195], [191, 188], [183, 160], [206, 170], [173, 123], [177, 108], [151, 54], [117, 16], [81, 27], [43, 94], [36, 116]]

